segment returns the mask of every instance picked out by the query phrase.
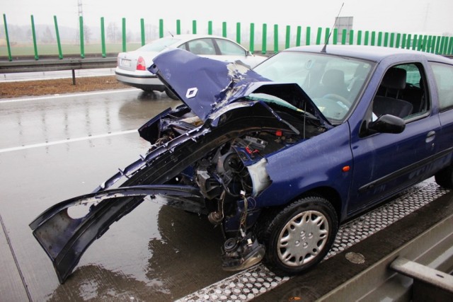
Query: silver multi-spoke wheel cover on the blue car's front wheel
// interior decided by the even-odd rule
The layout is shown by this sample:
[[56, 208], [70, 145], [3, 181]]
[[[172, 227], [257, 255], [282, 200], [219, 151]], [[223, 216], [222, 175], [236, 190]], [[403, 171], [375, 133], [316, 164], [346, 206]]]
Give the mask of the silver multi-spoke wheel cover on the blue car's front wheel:
[[326, 246], [329, 225], [319, 211], [293, 216], [277, 238], [277, 255], [284, 265], [299, 267], [311, 262]]

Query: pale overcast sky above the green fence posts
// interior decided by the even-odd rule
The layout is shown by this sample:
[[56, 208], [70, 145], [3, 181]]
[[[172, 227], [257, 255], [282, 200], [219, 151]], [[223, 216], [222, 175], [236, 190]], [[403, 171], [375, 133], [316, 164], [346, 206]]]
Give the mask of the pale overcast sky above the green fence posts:
[[[82, 0], [84, 23], [99, 26], [101, 17], [105, 25], [121, 24], [126, 18], [128, 28], [139, 28], [140, 19], [146, 24], [166, 26], [180, 19], [183, 30], [191, 29], [197, 20], [199, 28], [212, 21], [214, 28], [226, 21], [243, 26], [255, 23], [256, 28], [267, 23], [330, 28], [344, 3], [340, 16], [353, 16], [355, 30], [380, 30], [396, 33], [426, 33], [453, 35], [453, 0]], [[53, 24], [57, 16], [59, 26], [78, 26], [78, 0], [0, 0], [1, 13], [8, 25]]]

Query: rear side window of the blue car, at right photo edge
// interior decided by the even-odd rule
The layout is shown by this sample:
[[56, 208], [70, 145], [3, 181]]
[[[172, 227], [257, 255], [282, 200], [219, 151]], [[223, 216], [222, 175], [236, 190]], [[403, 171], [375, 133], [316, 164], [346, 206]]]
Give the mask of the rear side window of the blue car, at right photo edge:
[[431, 63], [439, 95], [440, 110], [453, 108], [453, 66]]

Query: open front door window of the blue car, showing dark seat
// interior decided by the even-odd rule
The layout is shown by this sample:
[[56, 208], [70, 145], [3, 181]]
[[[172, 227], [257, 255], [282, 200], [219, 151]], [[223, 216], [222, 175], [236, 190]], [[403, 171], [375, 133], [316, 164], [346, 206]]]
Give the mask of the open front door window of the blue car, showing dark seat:
[[374, 115], [395, 115], [404, 120], [424, 115], [430, 110], [424, 79], [421, 64], [392, 66], [374, 96]]

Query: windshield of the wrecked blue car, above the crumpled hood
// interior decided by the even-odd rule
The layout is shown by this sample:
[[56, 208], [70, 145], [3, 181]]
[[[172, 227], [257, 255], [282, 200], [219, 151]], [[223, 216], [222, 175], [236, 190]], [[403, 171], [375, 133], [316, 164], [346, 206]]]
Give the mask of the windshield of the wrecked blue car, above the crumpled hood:
[[358, 59], [311, 52], [280, 52], [253, 69], [272, 81], [297, 83], [332, 122], [348, 115], [372, 70]]

